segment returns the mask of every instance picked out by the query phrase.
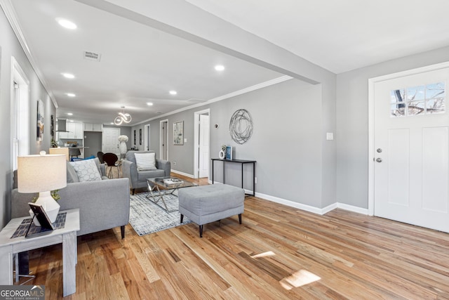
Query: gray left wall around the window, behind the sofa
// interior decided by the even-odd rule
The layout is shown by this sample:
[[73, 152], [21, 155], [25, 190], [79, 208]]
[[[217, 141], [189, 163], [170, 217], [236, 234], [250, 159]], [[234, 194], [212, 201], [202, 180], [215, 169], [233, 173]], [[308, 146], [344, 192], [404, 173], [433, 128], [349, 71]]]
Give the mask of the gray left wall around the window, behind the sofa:
[[[48, 93], [43, 88], [25, 53], [15, 37], [3, 11], [0, 10], [0, 226], [3, 228], [11, 215], [11, 57], [18, 61], [29, 79], [29, 154], [37, 154], [50, 148], [50, 119], [55, 115], [55, 107]], [[43, 141], [36, 141], [36, 109], [37, 100], [41, 99], [45, 107]]]

